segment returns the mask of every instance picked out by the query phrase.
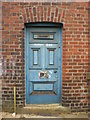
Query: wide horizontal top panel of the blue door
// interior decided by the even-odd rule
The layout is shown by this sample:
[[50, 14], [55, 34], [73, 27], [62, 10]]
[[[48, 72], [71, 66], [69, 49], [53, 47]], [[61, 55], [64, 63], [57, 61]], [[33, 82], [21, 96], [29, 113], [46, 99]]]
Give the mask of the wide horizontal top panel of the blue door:
[[57, 43], [58, 29], [31, 28], [29, 29], [29, 43]]

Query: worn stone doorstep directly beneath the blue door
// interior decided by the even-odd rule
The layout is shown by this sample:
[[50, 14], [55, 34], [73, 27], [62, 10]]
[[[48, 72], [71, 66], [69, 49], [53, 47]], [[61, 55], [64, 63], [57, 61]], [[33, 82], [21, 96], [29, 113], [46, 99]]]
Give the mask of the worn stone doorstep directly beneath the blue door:
[[63, 107], [59, 104], [46, 105], [26, 105], [23, 108], [17, 109], [18, 114], [34, 114], [43, 116], [58, 116], [61, 113], [70, 114], [70, 108]]

